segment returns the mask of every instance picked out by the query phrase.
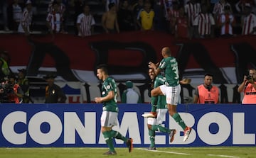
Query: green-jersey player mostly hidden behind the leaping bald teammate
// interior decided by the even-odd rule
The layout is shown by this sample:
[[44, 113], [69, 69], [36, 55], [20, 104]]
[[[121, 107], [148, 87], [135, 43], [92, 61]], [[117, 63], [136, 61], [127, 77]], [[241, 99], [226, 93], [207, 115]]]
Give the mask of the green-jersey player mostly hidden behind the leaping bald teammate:
[[[151, 79], [151, 86], [153, 86], [154, 88], [164, 84], [166, 81], [165, 77], [161, 76], [160, 74], [156, 77], [156, 74], [154, 74], [153, 69], [149, 69], [149, 77]], [[156, 118], [148, 117], [147, 126], [149, 129], [149, 140], [150, 140], [150, 146], [148, 149], [156, 150], [156, 147], [155, 147], [156, 131], [168, 133], [170, 137], [170, 142], [173, 142], [176, 130], [170, 130], [169, 128], [165, 128], [161, 125], [164, 122], [164, 118], [167, 113], [166, 96], [157, 96], [156, 105], [154, 104], [152, 105], [153, 106], [151, 107], [152, 108], [151, 111], [156, 111], [157, 116]]]

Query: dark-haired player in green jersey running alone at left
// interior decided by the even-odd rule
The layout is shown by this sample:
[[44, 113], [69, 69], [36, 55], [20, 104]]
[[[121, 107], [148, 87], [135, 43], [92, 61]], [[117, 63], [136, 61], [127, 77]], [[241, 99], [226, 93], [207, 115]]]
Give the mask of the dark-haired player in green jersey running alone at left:
[[104, 154], [117, 154], [114, 150], [113, 138], [126, 142], [129, 152], [132, 152], [132, 138], [124, 137], [121, 133], [112, 130], [112, 127], [117, 125], [117, 84], [112, 77], [109, 77], [107, 66], [105, 64], [100, 64], [97, 67], [97, 77], [101, 79], [103, 83], [101, 88], [102, 95], [101, 97], [96, 97], [95, 102], [103, 103], [102, 115], [100, 118], [101, 132], [105, 138], [107, 146], [110, 148], [110, 150]]

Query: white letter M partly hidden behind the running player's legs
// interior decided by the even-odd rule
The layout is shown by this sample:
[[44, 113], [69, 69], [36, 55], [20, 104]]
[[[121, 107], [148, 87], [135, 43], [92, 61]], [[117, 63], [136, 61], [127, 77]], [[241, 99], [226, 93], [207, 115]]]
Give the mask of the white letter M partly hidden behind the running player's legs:
[[[113, 130], [119, 131], [122, 135], [127, 135], [129, 133], [129, 137], [132, 137], [134, 140], [134, 144], [141, 144], [141, 135], [139, 132], [139, 122], [137, 118], [137, 112], [126, 112], [124, 113], [121, 124], [114, 126]], [[122, 140], [116, 140], [117, 144], [123, 144]], [[100, 133], [99, 144], [105, 144], [104, 137], [102, 133]]]

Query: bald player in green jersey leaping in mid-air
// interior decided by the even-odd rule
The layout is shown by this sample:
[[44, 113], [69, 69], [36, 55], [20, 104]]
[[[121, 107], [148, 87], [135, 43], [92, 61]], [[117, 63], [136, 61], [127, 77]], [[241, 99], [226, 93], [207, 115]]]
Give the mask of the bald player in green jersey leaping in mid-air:
[[188, 140], [192, 128], [186, 126], [181, 116], [177, 113], [178, 97], [181, 94], [181, 85], [178, 77], [178, 62], [175, 57], [171, 57], [171, 50], [169, 47], [164, 47], [161, 50], [163, 59], [159, 66], [153, 62], [149, 62], [149, 68], [154, 69], [154, 73], [158, 75], [164, 71], [166, 82], [151, 90], [151, 97], [164, 95], [166, 96], [166, 103], [168, 106], [169, 114], [184, 130], [183, 141]]

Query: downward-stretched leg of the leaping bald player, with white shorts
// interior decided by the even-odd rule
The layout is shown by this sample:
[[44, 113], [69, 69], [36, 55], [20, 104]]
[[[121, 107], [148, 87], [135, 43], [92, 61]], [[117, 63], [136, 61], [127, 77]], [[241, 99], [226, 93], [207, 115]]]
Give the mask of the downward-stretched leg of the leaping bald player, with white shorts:
[[176, 110], [178, 105], [178, 96], [181, 93], [181, 86], [168, 86], [168, 89], [166, 91], [166, 103], [168, 105], [169, 115], [171, 115], [176, 123], [178, 123], [178, 125], [180, 125], [181, 128], [184, 130], [183, 141], [185, 142], [186, 140], [188, 140], [188, 136], [191, 133], [191, 128], [184, 123], [181, 115], [179, 115]]

